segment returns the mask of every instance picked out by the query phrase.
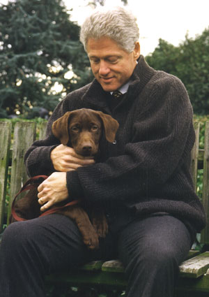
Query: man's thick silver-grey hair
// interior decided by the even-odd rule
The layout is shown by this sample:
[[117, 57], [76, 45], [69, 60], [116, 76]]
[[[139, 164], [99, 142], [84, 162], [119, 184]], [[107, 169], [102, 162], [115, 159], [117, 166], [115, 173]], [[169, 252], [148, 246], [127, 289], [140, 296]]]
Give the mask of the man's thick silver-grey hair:
[[139, 41], [137, 18], [122, 7], [96, 10], [82, 24], [80, 41], [86, 50], [88, 38], [102, 37], [109, 37], [126, 52], [132, 52]]

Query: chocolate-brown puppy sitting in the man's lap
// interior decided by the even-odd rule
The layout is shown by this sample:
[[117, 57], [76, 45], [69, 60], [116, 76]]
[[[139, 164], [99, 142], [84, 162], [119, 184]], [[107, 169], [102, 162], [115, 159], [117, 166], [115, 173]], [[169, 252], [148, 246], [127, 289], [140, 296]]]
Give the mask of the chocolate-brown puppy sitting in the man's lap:
[[[52, 124], [52, 133], [63, 145], [70, 145], [77, 154], [84, 157], [95, 157], [98, 153], [102, 132], [109, 142], [114, 142], [118, 122], [100, 111], [82, 108], [65, 113]], [[17, 203], [15, 211], [20, 217], [32, 219], [40, 215], [37, 199], [38, 191], [33, 189]], [[92, 209], [91, 221], [80, 205], [73, 205], [57, 210], [56, 213], [66, 215], [75, 220], [85, 245], [89, 249], [98, 248], [98, 237], [105, 237], [108, 231], [106, 217], [102, 210]], [[11, 222], [15, 222], [12, 218]]]

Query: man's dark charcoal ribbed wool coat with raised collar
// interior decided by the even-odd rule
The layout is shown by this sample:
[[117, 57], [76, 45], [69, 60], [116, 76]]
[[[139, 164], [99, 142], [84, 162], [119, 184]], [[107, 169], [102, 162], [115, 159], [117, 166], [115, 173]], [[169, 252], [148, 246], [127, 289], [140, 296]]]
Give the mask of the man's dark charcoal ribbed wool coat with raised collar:
[[123, 99], [114, 103], [97, 80], [68, 94], [49, 119], [47, 138], [26, 152], [29, 175], [54, 171], [50, 152], [59, 145], [52, 122], [77, 108], [101, 110], [120, 124], [116, 142], [102, 139], [91, 166], [67, 173], [70, 200], [83, 198], [104, 208], [125, 205], [139, 215], [169, 212], [203, 229], [206, 217], [189, 173], [195, 134], [192, 106], [182, 82], [150, 68], [143, 56]]

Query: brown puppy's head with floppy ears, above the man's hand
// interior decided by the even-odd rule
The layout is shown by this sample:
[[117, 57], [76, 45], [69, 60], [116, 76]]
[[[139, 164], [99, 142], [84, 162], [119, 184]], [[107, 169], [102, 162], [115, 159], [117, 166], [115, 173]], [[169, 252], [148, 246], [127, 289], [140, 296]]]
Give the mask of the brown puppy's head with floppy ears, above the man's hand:
[[72, 145], [77, 154], [94, 156], [98, 152], [104, 130], [110, 143], [114, 142], [118, 122], [110, 115], [91, 109], [78, 109], [65, 113], [52, 124], [52, 133], [63, 145]]

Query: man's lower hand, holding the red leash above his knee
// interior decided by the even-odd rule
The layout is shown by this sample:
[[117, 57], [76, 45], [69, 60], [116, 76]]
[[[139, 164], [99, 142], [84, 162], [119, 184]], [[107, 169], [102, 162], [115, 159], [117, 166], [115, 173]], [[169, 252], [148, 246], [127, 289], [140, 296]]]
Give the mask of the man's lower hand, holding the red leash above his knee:
[[38, 186], [38, 203], [42, 205], [41, 211], [68, 198], [66, 187], [66, 173], [54, 172]]

